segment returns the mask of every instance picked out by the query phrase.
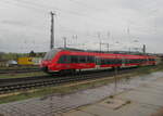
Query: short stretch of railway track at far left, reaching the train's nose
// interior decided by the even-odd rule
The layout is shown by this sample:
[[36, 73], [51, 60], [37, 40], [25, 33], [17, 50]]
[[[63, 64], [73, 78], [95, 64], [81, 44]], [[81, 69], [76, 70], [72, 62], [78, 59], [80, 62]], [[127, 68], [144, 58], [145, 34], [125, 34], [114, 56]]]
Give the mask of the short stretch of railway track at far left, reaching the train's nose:
[[0, 69], [0, 74], [21, 74], [21, 73], [32, 73], [41, 72], [39, 68], [23, 68], [23, 69]]

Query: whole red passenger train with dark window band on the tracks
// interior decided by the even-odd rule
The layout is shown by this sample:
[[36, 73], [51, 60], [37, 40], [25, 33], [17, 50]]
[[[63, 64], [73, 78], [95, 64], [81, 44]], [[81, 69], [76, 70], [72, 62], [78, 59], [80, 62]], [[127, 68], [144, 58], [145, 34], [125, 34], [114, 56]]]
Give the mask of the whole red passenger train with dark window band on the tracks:
[[149, 55], [102, 53], [75, 49], [52, 49], [40, 63], [42, 70], [74, 73], [83, 69], [104, 69], [155, 65], [155, 57]]

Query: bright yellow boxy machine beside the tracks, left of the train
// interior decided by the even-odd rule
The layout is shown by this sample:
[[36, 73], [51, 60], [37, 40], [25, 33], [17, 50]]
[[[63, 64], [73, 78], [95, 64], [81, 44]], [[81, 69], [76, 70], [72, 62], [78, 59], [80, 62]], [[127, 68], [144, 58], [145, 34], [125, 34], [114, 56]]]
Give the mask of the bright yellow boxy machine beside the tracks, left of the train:
[[33, 57], [18, 57], [18, 65], [34, 65]]

